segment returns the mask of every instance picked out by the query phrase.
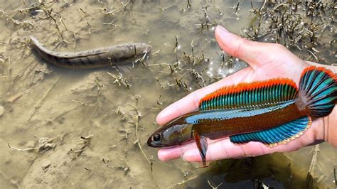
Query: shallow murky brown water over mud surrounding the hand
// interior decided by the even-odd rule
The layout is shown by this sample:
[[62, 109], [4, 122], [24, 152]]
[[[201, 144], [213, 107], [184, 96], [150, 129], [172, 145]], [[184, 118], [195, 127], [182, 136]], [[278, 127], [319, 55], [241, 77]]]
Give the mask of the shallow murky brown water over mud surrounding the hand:
[[[181, 159], [162, 163], [145, 143], [161, 109], [247, 66], [224, 55], [213, 33], [221, 24], [234, 33], [252, 34], [256, 13], [250, 1], [33, 2], [0, 1], [1, 188], [334, 186], [337, 153], [328, 144], [197, 169]], [[36, 11], [26, 9], [33, 6]], [[296, 46], [294, 53], [333, 64], [336, 41], [325, 43], [336, 38], [333, 30], [326, 26], [317, 36], [322, 39], [316, 47], [320, 57]], [[149, 43], [154, 50], [144, 63], [69, 70], [36, 55], [29, 35], [59, 51], [127, 42]], [[256, 40], [276, 41], [270, 36]], [[310, 165], [314, 179], [308, 182]]]

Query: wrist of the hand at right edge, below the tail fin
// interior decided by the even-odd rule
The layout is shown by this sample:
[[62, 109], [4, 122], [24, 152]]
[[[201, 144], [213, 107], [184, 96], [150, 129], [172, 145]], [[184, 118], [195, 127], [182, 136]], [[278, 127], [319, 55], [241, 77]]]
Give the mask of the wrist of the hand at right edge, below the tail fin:
[[323, 117], [324, 141], [337, 148], [337, 108], [335, 107], [331, 114]]

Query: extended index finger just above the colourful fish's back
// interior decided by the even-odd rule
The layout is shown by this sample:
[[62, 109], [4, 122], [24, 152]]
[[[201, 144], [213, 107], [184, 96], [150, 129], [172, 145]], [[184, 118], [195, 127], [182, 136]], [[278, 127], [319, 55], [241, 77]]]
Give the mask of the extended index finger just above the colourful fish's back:
[[169, 107], [166, 107], [158, 114], [156, 122], [163, 125], [176, 117], [195, 111], [198, 109], [199, 101], [202, 97], [205, 97], [205, 95], [208, 95], [210, 92], [218, 90], [220, 87], [236, 85], [242, 81], [250, 82], [251, 80], [254, 80], [252, 68], [248, 67], [240, 70], [233, 75], [225, 77], [223, 80], [213, 83], [212, 85], [208, 85], [200, 90], [191, 92], [186, 97], [183, 97], [177, 102], [169, 105]]

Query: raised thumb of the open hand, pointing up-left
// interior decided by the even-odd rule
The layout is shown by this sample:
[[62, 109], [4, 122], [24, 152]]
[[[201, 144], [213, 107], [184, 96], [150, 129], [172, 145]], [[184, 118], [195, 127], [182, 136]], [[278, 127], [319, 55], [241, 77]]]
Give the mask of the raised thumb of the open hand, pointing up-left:
[[215, 29], [215, 38], [225, 53], [244, 60], [250, 64], [252, 68], [257, 68], [264, 64], [266, 49], [271, 45], [270, 43], [249, 41], [234, 33], [230, 33], [223, 28], [223, 26], [217, 26]]

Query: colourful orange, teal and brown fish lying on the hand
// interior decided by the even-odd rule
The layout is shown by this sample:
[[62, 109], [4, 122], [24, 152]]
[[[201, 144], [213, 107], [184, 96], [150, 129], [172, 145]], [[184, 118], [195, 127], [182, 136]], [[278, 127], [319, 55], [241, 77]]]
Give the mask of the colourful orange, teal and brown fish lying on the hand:
[[207, 140], [229, 136], [234, 144], [259, 141], [269, 147], [296, 139], [312, 119], [326, 117], [337, 102], [337, 77], [326, 68], [306, 68], [299, 81], [276, 78], [223, 87], [152, 134], [147, 144], [169, 147], [196, 141], [203, 164]]

